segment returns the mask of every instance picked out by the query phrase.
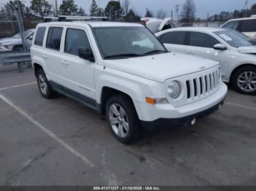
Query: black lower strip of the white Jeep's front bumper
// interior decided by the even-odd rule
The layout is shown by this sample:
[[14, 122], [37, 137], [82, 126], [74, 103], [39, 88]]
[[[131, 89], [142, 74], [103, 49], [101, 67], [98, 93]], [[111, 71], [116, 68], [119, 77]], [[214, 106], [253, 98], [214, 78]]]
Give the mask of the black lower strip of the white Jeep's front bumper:
[[197, 120], [200, 117], [206, 117], [209, 114], [212, 114], [213, 112], [216, 112], [220, 106], [224, 104], [224, 100], [220, 101], [218, 104], [215, 106], [212, 106], [209, 109], [204, 110], [203, 112], [199, 112], [196, 114], [191, 114], [187, 117], [180, 117], [180, 118], [172, 118], [172, 119], [166, 119], [166, 118], [161, 118], [158, 120], [154, 121], [140, 121], [141, 125], [143, 126], [144, 129], [152, 131], [152, 130], [157, 130], [160, 128], [170, 128], [170, 127], [175, 127], [175, 126], [185, 126], [188, 127], [192, 125], [192, 120]]

